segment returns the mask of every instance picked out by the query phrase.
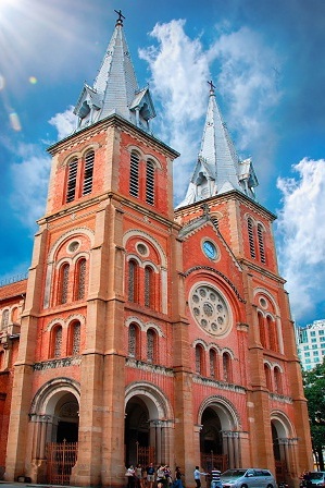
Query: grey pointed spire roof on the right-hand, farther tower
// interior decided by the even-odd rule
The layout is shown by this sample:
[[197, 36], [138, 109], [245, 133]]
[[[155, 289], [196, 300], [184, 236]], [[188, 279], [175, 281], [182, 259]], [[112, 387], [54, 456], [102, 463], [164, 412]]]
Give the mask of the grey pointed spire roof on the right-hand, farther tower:
[[208, 112], [198, 156], [185, 199], [177, 208], [232, 190], [255, 199], [259, 182], [251, 159], [240, 161], [210, 84]]

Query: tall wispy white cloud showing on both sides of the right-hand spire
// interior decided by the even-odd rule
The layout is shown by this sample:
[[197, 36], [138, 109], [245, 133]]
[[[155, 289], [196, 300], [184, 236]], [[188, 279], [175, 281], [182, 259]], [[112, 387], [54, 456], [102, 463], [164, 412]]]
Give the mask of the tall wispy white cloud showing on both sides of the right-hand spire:
[[141, 50], [140, 57], [149, 63], [150, 86], [163, 107], [159, 136], [182, 154], [174, 167], [176, 203], [187, 190], [185, 181], [200, 147], [201, 118], [208, 107], [207, 82], [211, 80], [209, 66], [220, 73], [213, 81], [217, 98], [221, 94], [227, 102], [229, 131], [240, 134], [236, 147], [249, 147], [249, 154], [253, 152], [261, 166], [270, 164], [276, 135], [268, 117], [280, 97], [276, 83], [279, 60], [263, 39], [247, 27], [222, 35], [216, 28], [216, 40], [204, 50], [201, 39], [186, 35], [183, 20], [157, 24], [151, 35], [158, 46]]

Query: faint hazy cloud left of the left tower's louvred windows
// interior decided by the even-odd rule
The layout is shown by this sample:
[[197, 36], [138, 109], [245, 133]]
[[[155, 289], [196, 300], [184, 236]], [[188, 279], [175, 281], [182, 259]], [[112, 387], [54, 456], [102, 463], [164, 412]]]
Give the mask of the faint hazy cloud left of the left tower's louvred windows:
[[36, 220], [45, 213], [51, 159], [32, 144], [21, 145], [16, 154], [22, 161], [11, 166], [10, 205], [21, 222], [34, 232]]

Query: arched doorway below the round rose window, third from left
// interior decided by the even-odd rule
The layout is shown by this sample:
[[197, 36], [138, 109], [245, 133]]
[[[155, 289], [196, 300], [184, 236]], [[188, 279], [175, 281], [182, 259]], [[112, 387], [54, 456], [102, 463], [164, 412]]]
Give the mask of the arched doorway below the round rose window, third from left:
[[207, 399], [200, 408], [200, 454], [205, 471], [240, 467], [239, 416], [228, 400]]

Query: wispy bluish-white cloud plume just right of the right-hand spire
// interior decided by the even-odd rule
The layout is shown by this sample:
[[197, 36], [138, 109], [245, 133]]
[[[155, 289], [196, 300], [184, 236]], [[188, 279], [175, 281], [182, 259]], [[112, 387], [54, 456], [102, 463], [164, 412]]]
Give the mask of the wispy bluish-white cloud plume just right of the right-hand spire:
[[217, 91], [227, 103], [227, 123], [237, 133], [237, 149], [246, 156], [253, 152], [260, 168], [267, 170], [277, 141], [270, 118], [282, 96], [282, 60], [257, 32], [245, 26], [221, 34], [209, 59], [218, 64]]

